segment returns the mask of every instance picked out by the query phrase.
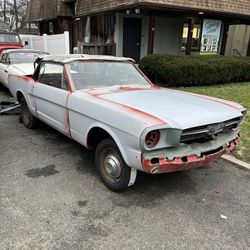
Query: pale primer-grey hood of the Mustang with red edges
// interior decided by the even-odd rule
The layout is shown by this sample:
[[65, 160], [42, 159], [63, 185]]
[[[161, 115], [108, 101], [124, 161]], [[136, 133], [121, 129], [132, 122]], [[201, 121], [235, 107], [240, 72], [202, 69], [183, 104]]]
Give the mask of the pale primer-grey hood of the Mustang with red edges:
[[96, 96], [142, 111], [179, 129], [224, 122], [242, 116], [243, 110], [233, 102], [165, 88], [120, 88], [111, 93], [97, 92]]

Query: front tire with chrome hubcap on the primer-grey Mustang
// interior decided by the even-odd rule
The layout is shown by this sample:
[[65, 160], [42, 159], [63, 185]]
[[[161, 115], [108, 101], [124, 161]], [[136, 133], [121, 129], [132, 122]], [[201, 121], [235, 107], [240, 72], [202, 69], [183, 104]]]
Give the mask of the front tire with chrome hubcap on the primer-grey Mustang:
[[103, 184], [112, 191], [128, 187], [131, 168], [112, 139], [101, 141], [95, 150], [95, 167]]

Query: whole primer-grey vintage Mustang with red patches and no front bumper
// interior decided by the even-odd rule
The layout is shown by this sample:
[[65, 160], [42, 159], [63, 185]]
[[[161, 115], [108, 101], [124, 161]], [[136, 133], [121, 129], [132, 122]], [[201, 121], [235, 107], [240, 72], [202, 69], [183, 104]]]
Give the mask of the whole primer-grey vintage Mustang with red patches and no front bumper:
[[186, 170], [235, 150], [246, 110], [221, 99], [154, 86], [132, 59], [46, 56], [33, 77], [10, 76], [21, 119], [37, 119], [95, 152], [113, 191], [151, 174]]

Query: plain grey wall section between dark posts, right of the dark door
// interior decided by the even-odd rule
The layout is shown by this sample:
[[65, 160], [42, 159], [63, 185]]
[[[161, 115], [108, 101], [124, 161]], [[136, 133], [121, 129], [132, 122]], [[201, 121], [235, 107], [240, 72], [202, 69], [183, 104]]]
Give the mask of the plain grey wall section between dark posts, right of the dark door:
[[181, 54], [183, 23], [180, 18], [155, 18], [154, 54]]

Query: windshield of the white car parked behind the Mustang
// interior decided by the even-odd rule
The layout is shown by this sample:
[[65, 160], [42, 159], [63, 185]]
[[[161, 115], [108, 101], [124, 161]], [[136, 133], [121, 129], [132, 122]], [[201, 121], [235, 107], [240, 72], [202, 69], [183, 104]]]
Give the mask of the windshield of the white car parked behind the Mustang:
[[8, 64], [34, 63], [38, 57], [43, 57], [47, 53], [43, 52], [14, 52], [7, 58]]

